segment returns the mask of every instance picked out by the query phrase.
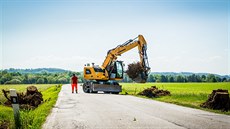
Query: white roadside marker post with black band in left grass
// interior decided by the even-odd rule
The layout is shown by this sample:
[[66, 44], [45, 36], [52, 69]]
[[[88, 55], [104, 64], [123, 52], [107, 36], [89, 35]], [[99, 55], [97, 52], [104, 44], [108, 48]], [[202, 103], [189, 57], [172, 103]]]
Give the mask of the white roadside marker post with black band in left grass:
[[10, 89], [10, 98], [11, 98], [11, 103], [12, 103], [12, 107], [14, 110], [15, 127], [16, 127], [16, 129], [19, 129], [21, 126], [21, 124], [20, 124], [20, 113], [19, 113], [18, 96], [16, 94], [15, 89]]

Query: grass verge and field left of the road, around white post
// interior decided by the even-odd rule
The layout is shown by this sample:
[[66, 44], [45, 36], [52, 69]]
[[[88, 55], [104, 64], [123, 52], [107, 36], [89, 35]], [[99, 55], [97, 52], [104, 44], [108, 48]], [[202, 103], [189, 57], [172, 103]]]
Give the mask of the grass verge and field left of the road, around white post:
[[[0, 90], [16, 89], [17, 91], [24, 92], [27, 86], [30, 85], [0, 85]], [[41, 91], [44, 102], [35, 110], [20, 111], [22, 129], [40, 129], [53, 105], [56, 103], [58, 93], [61, 90], [61, 85], [48, 84], [35, 86]], [[5, 101], [6, 99], [0, 91], [0, 124], [5, 120], [10, 123], [10, 128], [15, 128], [13, 110], [11, 107], [2, 105]]]

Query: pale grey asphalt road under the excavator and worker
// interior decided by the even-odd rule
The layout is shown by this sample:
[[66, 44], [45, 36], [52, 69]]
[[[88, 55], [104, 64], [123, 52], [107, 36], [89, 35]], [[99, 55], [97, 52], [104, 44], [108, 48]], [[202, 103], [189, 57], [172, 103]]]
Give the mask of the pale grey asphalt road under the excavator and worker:
[[64, 85], [43, 129], [230, 129], [230, 116]]

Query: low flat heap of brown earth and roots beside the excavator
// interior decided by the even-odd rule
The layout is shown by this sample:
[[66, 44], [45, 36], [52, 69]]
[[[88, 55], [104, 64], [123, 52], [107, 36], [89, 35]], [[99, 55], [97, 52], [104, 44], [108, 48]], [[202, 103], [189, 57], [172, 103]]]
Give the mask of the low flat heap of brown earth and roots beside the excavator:
[[142, 92], [138, 93], [138, 95], [154, 98], [159, 96], [170, 95], [170, 92], [167, 90], [159, 90], [156, 86], [151, 86], [150, 88], [144, 89]]

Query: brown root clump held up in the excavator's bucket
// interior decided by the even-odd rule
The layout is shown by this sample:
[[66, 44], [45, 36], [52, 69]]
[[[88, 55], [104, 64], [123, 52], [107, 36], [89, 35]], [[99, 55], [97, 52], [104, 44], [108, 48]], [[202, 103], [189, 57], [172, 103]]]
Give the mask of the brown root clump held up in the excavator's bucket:
[[146, 82], [147, 78], [142, 77], [144, 69], [142, 68], [140, 62], [129, 64], [126, 73], [129, 76], [129, 78], [131, 78], [135, 82]]

